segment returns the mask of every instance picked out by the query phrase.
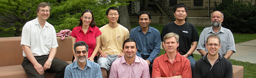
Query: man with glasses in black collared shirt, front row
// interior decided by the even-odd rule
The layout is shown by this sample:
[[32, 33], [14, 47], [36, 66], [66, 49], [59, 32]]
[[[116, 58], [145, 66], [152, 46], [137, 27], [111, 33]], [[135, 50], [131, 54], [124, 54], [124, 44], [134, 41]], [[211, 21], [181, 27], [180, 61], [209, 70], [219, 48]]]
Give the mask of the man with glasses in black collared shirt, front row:
[[207, 37], [205, 44], [208, 53], [196, 61], [193, 78], [232, 78], [232, 63], [218, 53], [220, 38], [216, 34]]

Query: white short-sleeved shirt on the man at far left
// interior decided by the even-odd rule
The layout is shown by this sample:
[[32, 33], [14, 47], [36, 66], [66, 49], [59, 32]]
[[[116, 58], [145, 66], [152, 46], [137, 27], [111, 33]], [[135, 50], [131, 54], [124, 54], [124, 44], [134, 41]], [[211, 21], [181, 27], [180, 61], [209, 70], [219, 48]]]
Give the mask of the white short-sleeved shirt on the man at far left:
[[[29, 46], [33, 56], [48, 55], [51, 48], [58, 47], [53, 25], [46, 21], [42, 29], [37, 18], [28, 21], [22, 28], [21, 45]], [[23, 56], [26, 57], [24, 51]]]

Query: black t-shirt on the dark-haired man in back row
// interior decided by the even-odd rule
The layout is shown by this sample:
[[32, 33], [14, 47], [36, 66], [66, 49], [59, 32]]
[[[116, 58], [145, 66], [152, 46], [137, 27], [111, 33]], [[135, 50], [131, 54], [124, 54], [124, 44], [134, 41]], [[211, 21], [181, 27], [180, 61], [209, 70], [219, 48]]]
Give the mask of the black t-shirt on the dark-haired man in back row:
[[[177, 25], [174, 21], [167, 23], [162, 29], [161, 41], [164, 41], [165, 34], [171, 32], [178, 34], [180, 37], [177, 51], [181, 55], [186, 54], [190, 50], [192, 42], [199, 40], [196, 27], [188, 22], [185, 22], [183, 25]], [[191, 54], [191, 56], [193, 56], [193, 54]]]

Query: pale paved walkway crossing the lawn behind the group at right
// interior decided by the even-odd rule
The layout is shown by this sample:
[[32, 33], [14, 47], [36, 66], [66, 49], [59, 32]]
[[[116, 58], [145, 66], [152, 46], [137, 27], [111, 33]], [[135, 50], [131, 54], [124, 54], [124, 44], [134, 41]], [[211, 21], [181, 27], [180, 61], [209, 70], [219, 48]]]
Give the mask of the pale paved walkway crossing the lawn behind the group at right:
[[[256, 63], [256, 39], [235, 44], [235, 47], [236, 53], [233, 53], [230, 59]], [[197, 50], [193, 53], [200, 54]]]

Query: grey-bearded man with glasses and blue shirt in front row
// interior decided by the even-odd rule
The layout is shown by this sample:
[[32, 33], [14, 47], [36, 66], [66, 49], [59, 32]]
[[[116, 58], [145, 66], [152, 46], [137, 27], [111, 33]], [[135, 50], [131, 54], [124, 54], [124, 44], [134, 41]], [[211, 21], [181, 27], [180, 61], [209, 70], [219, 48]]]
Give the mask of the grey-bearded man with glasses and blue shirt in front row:
[[74, 44], [77, 60], [66, 66], [64, 78], [102, 78], [100, 65], [87, 60], [88, 48], [84, 41]]

